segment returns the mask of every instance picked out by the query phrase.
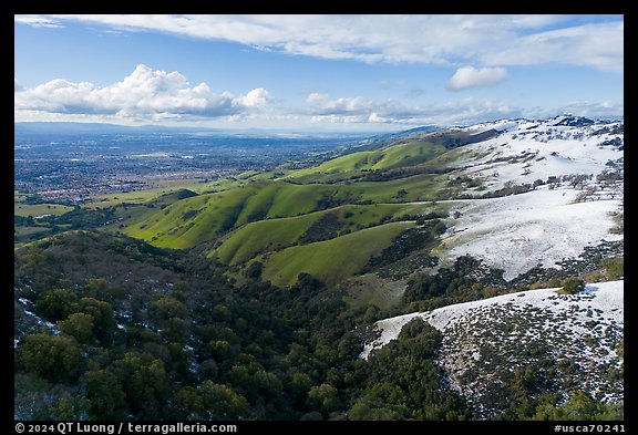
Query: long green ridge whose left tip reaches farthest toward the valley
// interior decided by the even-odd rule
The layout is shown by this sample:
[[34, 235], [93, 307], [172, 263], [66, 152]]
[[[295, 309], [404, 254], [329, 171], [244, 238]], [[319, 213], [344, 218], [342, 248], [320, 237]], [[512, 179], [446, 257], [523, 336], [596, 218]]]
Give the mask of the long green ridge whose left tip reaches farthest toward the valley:
[[250, 221], [306, 215], [339, 204], [432, 199], [439, 183], [431, 175], [350, 185], [295, 185], [258, 182], [216, 194], [177, 200], [124, 228], [128, 236], [183, 249], [212, 240]]

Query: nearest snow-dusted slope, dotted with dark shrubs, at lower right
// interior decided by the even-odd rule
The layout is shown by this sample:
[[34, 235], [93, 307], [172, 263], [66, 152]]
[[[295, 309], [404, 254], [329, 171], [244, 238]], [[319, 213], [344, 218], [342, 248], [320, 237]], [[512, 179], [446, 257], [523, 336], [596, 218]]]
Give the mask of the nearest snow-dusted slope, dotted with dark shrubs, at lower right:
[[380, 336], [367, 343], [360, 356], [370, 358], [409, 321], [421, 318], [443, 334], [436, 363], [450, 386], [483, 417], [503, 406], [493, 402], [502, 377], [523, 366], [535, 367], [549, 390], [582, 389], [601, 401], [622, 400], [622, 363], [616, 349], [624, 333], [624, 281], [587, 284], [578, 294], [556, 290], [528, 290], [381, 320], [375, 323]]

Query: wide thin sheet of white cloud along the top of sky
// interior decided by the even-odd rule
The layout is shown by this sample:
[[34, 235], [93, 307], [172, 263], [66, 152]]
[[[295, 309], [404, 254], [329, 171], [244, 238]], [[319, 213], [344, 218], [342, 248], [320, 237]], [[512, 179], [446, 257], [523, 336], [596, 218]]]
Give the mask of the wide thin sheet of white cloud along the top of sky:
[[481, 66], [557, 62], [615, 71], [621, 71], [624, 63], [622, 17], [597, 22], [596, 17], [580, 15], [578, 22], [585, 23], [578, 24], [572, 15], [549, 14], [16, 17], [16, 22], [32, 25], [68, 20], [361, 62]]

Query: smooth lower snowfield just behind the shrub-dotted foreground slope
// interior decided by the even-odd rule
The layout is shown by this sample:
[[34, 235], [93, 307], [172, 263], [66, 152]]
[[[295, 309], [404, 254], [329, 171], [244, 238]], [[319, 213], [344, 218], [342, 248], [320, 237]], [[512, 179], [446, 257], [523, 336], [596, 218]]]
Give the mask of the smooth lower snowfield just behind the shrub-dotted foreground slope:
[[609, 232], [615, 226], [610, 214], [621, 201], [575, 203], [577, 195], [574, 189], [537, 189], [456, 204], [461, 216], [438, 252], [452, 259], [469, 253], [503, 269], [503, 278], [511, 280], [537, 265], [557, 267], [588, 245], [621, 240], [622, 235]]

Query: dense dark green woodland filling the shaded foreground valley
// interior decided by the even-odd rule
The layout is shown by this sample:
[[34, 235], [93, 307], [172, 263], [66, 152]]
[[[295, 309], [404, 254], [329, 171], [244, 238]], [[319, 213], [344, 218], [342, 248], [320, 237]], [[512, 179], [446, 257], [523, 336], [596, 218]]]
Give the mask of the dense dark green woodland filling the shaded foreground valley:
[[[432, 226], [435, 234], [440, 228]], [[311, 237], [309, 235], [309, 237]], [[400, 258], [385, 252], [383, 258]], [[203, 248], [164, 250], [122, 235], [70, 231], [16, 251], [14, 415], [20, 420], [473, 420], [433, 363], [441, 334], [413, 321], [359, 358], [354, 309], [309, 275], [289, 289], [243, 283]], [[416, 276], [405, 304], [493, 296], [457, 260]], [[497, 275], [497, 272], [496, 272]], [[496, 277], [497, 278], [497, 277]], [[501, 420], [619, 420], [582, 392], [565, 402], [533, 373], [505, 385]]]

